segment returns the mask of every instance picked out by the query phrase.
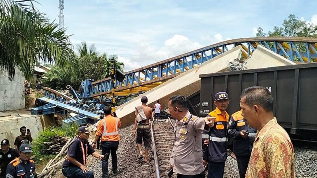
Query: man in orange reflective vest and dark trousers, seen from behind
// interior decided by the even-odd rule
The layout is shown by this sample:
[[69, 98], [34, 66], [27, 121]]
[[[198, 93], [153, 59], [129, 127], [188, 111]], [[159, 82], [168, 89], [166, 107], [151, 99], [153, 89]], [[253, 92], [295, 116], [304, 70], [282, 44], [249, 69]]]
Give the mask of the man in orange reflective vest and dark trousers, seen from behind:
[[112, 158], [112, 172], [113, 174], [118, 173], [117, 149], [120, 140], [118, 131], [121, 122], [119, 118], [113, 117], [110, 106], [106, 106], [103, 112], [105, 117], [100, 120], [97, 126], [97, 132], [92, 146], [96, 148], [96, 142], [101, 136], [101, 154], [105, 155], [105, 158], [102, 160], [102, 178], [107, 178], [109, 153]]

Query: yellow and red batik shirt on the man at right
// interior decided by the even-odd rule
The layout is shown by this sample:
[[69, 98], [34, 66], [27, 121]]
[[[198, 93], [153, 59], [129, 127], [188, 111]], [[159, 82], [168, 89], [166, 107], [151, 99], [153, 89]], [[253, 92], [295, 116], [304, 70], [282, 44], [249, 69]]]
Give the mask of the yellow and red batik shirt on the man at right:
[[294, 178], [294, 148], [276, 118], [257, 131], [246, 178]]

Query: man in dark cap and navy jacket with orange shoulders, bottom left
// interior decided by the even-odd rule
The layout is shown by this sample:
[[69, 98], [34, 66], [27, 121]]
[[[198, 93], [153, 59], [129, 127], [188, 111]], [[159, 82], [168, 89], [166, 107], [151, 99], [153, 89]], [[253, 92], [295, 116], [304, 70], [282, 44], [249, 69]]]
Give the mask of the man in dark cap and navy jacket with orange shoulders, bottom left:
[[19, 149], [20, 157], [8, 164], [6, 178], [36, 178], [35, 162], [30, 159], [32, 148], [22, 144]]

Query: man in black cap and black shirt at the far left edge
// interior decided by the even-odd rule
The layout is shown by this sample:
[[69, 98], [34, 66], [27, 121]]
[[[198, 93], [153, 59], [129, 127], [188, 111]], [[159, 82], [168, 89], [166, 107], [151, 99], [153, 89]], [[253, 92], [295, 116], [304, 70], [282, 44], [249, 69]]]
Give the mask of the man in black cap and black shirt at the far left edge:
[[17, 157], [19, 157], [19, 153], [15, 149], [10, 148], [9, 140], [2, 140], [0, 150], [0, 178], [5, 177], [8, 164]]

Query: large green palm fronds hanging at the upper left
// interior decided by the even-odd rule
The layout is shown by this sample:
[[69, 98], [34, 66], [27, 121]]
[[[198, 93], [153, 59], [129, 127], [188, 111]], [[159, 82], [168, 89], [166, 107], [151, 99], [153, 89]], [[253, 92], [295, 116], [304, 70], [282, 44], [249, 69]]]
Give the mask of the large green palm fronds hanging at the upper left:
[[15, 67], [30, 78], [34, 66], [55, 63], [64, 71], [78, 72], [77, 58], [65, 29], [40, 13], [33, 0], [0, 1], [0, 69], [13, 79]]

